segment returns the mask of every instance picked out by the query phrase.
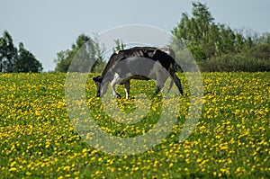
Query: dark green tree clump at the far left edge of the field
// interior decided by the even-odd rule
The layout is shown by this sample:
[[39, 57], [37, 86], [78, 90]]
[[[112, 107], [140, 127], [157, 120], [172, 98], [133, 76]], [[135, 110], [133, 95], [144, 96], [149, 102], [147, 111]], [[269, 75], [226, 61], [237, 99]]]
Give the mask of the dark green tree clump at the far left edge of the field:
[[8, 31], [4, 31], [0, 38], [0, 72], [32, 72], [38, 73], [43, 69], [41, 63], [28, 49], [24, 48], [23, 42], [19, 48], [14, 46], [14, 40]]

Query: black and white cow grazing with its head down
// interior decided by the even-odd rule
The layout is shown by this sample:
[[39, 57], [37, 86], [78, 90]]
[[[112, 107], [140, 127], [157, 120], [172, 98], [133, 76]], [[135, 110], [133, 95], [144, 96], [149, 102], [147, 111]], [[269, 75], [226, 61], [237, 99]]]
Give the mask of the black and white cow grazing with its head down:
[[101, 76], [93, 78], [97, 87], [97, 96], [102, 97], [109, 83], [112, 85], [114, 97], [121, 97], [115, 91], [115, 85], [124, 85], [126, 99], [130, 95], [130, 79], [157, 80], [155, 94], [163, 88], [166, 79], [172, 78], [180, 94], [183, 93], [179, 78], [175, 75], [175, 52], [173, 49], [157, 49], [152, 47], [135, 47], [112, 54]]

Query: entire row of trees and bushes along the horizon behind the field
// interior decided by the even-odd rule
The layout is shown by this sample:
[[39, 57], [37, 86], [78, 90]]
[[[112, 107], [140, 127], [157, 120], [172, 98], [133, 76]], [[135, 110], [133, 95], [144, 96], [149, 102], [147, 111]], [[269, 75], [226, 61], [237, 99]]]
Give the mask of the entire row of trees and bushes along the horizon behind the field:
[[[182, 13], [180, 22], [171, 31], [175, 38], [169, 47], [184, 45], [201, 71], [270, 71], [270, 32], [258, 35], [252, 31], [232, 30], [229, 25], [215, 22], [206, 4], [193, 2], [192, 5], [192, 13]], [[79, 35], [70, 49], [57, 53], [54, 71], [101, 72], [106, 64], [105, 49], [97, 39]], [[113, 51], [126, 47], [121, 40], [114, 41]], [[0, 38], [0, 72], [40, 71], [41, 63], [34, 55], [22, 42], [18, 49], [14, 47], [11, 35], [4, 31]]]

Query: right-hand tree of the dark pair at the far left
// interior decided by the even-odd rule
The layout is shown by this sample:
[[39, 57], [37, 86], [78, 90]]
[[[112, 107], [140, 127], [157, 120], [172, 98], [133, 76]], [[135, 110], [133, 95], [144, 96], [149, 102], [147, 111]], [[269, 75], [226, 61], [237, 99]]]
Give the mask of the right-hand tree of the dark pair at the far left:
[[39, 73], [43, 69], [40, 61], [27, 49], [24, 48], [23, 43], [19, 44], [18, 58], [14, 63], [14, 72], [23, 73]]

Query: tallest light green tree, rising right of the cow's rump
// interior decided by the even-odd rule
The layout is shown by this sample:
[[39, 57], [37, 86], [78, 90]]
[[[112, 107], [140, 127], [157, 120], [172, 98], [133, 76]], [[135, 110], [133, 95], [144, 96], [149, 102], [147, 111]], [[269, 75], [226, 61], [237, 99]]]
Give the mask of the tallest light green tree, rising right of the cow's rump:
[[214, 19], [206, 4], [193, 3], [192, 14], [193, 16], [189, 18], [187, 13], [182, 13], [182, 19], [172, 33], [177, 39], [184, 42], [195, 59], [201, 61], [208, 58], [209, 54], [213, 53], [211, 51], [215, 49], [214, 45], [209, 43], [211, 37], [209, 31], [213, 31], [213, 34], [217, 35], [217, 26], [212, 26]]

